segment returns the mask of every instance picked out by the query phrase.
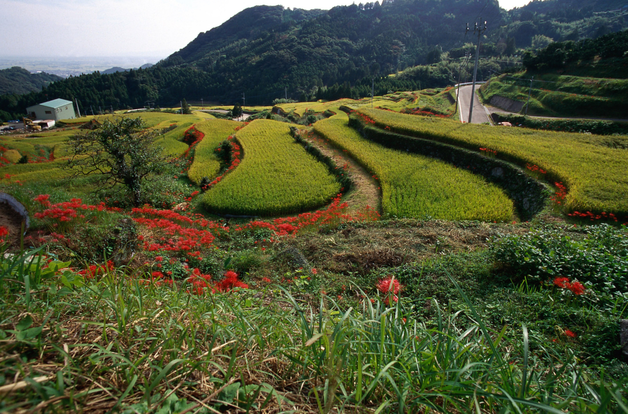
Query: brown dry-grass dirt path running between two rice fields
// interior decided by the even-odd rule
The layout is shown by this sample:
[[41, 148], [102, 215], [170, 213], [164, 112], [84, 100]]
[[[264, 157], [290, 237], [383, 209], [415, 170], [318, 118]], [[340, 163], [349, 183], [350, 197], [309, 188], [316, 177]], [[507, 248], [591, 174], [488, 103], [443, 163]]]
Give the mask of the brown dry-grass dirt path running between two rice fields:
[[350, 211], [364, 210], [366, 206], [370, 206], [381, 213], [379, 183], [368, 171], [349, 157], [345, 151], [332, 146], [327, 139], [320, 137], [313, 130], [310, 130], [308, 134], [303, 134], [303, 138], [317, 147], [323, 155], [333, 159], [338, 168], [344, 168], [345, 174], [349, 174], [354, 186], [345, 194], [343, 201], [349, 203]]

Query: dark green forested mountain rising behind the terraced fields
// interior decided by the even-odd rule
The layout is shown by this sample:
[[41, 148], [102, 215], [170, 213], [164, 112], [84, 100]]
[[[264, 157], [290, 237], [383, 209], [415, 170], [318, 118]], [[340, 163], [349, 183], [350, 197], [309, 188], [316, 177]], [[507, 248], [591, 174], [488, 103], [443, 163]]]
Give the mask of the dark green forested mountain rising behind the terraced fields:
[[[329, 11], [256, 6], [198, 34], [148, 70], [92, 73], [45, 91], [0, 97], [23, 112], [48, 98], [77, 98], [82, 111], [172, 105], [181, 98], [268, 104], [274, 98], [362, 97], [371, 92], [441, 87], [457, 80], [460, 59], [487, 21], [480, 78], [521, 61], [521, 48], [598, 37], [628, 27], [625, 0], [545, 0], [505, 11], [497, 0], [383, 0]], [[420, 66], [417, 66], [420, 65]], [[396, 77], [391, 73], [401, 72]]]

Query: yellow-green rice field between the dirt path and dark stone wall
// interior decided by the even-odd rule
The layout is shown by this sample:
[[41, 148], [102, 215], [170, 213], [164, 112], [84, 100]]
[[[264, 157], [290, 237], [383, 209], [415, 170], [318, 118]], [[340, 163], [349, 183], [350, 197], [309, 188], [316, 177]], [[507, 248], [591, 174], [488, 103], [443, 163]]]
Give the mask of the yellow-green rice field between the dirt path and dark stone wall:
[[512, 220], [512, 201], [494, 184], [445, 162], [367, 141], [347, 125], [348, 120], [339, 112], [318, 121], [314, 129], [377, 176], [384, 213], [444, 220]]

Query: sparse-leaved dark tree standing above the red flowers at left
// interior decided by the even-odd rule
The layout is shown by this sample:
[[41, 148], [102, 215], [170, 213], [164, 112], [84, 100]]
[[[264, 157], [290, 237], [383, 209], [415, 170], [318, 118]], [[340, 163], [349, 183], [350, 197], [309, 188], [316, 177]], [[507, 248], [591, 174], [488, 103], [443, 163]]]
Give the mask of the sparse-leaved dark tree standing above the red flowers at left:
[[105, 120], [100, 127], [70, 137], [72, 178], [102, 176], [98, 189], [122, 184], [129, 189], [133, 205], [143, 201], [142, 183], [157, 179], [167, 162], [156, 145], [159, 132], [146, 129], [141, 118]]

